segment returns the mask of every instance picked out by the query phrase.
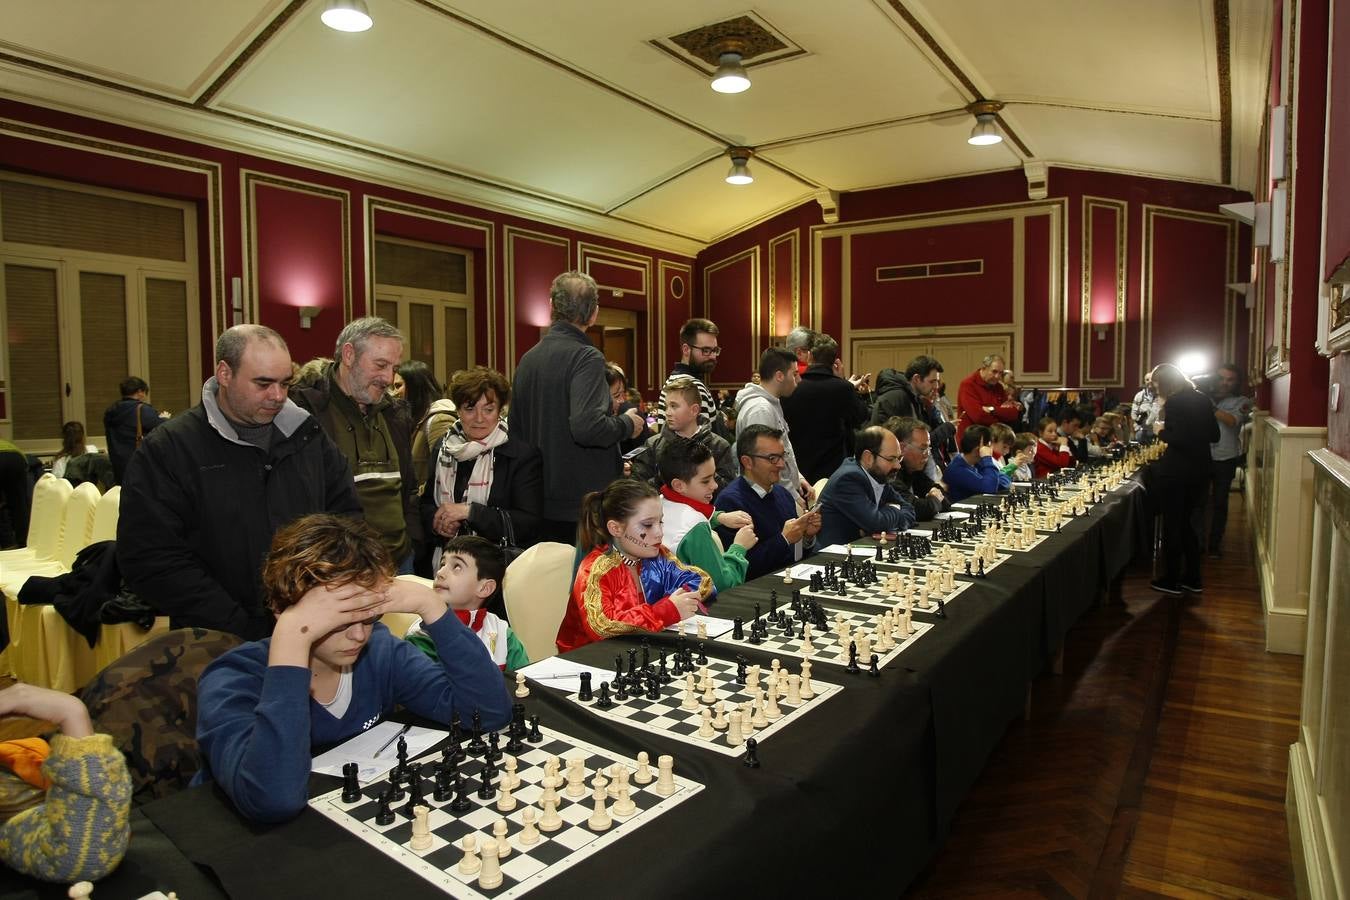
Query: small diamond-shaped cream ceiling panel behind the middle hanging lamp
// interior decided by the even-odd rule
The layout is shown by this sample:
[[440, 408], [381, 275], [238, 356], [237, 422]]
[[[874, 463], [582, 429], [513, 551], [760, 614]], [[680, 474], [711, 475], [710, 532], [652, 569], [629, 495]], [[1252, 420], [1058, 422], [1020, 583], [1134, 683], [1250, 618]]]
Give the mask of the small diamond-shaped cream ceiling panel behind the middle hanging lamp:
[[707, 242], [810, 197], [810, 189], [802, 182], [763, 161], [751, 161], [752, 185], [726, 184], [730, 167], [726, 157], [703, 163], [624, 204], [614, 215]]

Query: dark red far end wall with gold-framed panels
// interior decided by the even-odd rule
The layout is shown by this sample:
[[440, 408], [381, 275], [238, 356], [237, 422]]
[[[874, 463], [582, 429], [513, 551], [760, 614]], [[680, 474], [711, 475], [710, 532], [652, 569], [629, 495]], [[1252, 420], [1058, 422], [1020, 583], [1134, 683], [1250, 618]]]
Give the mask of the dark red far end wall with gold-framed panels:
[[[1084, 198], [1092, 202], [1091, 233], [1084, 221]], [[846, 273], [842, 270], [842, 242], [832, 236], [829, 227], [822, 233], [819, 271], [813, 271], [813, 227], [822, 224], [821, 212], [815, 202], [803, 204], [726, 237], [698, 255], [695, 274], [701, 282], [706, 270], [716, 269], [718, 273], [716, 287], [710, 285], [707, 313], [724, 335], [730, 329], [737, 340], [730, 344], [724, 337], [728, 352], [718, 367], [718, 381], [734, 381], [732, 375], [738, 378], [741, 372], [748, 372], [752, 363], [745, 359], [737, 364], [733, 356], [741, 352], [737, 348], [751, 333], [755, 320], [751, 306], [738, 305], [737, 297], [749, 297], [756, 287], [760, 291], [760, 347], [775, 335], [782, 337], [787, 331], [784, 325], [790, 324], [780, 310], [775, 322], [765, 318], [763, 296], [770, 286], [765, 266], [760, 267], [756, 285], [749, 281], [751, 267], [728, 270], [722, 263], [747, 251], [757, 251], [761, 259], [767, 259], [771, 242], [786, 231], [796, 232], [801, 247], [799, 324], [841, 336], [845, 296], [852, 304], [852, 329], [1011, 321], [1013, 223], [1000, 210], [988, 209], [991, 206], [1031, 208], [1027, 212], [1035, 213], [1027, 215], [1022, 225], [1025, 359], [1013, 360], [1014, 368], [1046, 371], [1053, 343], [1064, 348], [1062, 385], [1083, 386], [1085, 371], [1089, 379], [1106, 381], [1118, 393], [1133, 394], [1142, 381], [1145, 341], [1152, 348], [1142, 363], [1145, 368], [1192, 347], [1208, 349], [1214, 363], [1219, 363], [1227, 355], [1223, 347], [1226, 317], [1234, 336], [1233, 355], [1239, 364], [1245, 364], [1249, 354], [1247, 312], [1226, 285], [1247, 278], [1250, 235], [1246, 227], [1219, 216], [1218, 208], [1249, 198], [1227, 188], [1058, 167], [1050, 169], [1049, 197], [1040, 205], [1027, 200], [1026, 178], [1018, 170], [844, 194], [840, 197], [840, 224], [911, 217], [905, 229], [853, 233]], [[1056, 201], [1064, 210], [1062, 262], [1058, 271], [1050, 271], [1052, 242], [1061, 240], [1061, 233], [1050, 229], [1049, 209]], [[1146, 210], [1146, 206], [1150, 209]], [[980, 221], [922, 224], [925, 216], [972, 210], [986, 210], [987, 215]], [[1146, 221], [1152, 228], [1148, 243]], [[909, 227], [914, 224], [919, 227]], [[1122, 236], [1123, 247], [1119, 243]], [[1092, 313], [1084, 321], [1083, 255], [1087, 237], [1087, 252], [1092, 259], [1088, 289]], [[980, 259], [983, 273], [915, 281], [882, 282], [876, 278], [878, 266], [965, 259]], [[1049, 322], [1054, 312], [1050, 309], [1052, 285], [1056, 282], [1066, 285], [1066, 296], [1064, 308], [1058, 310], [1062, 325], [1050, 335]], [[1120, 322], [1115, 321], [1118, 291], [1123, 293], [1126, 313]], [[1145, 309], [1146, 293], [1152, 294], [1152, 313]], [[819, 306], [819, 321], [813, 322], [814, 305]], [[729, 321], [726, 316], [738, 316], [740, 321]], [[1096, 340], [1094, 322], [1108, 325], [1106, 340]], [[1080, 349], [1084, 336], [1088, 337], [1087, 360], [1081, 359]], [[849, 348], [844, 351], [848, 358]]]

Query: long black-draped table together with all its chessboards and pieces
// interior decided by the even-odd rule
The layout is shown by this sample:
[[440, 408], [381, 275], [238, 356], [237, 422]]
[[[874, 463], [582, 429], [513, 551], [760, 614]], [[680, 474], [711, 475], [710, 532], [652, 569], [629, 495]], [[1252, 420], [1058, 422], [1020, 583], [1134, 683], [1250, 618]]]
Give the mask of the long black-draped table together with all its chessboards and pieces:
[[510, 729], [460, 723], [400, 764], [397, 789], [315, 776], [310, 808], [279, 826], [244, 822], [213, 787], [151, 803], [94, 896], [796, 896], [822, 866], [837, 892], [898, 896], [1130, 560], [1146, 519], [1133, 468], [819, 553], [790, 583], [720, 596], [725, 630], [574, 650], [593, 684], [526, 680]]

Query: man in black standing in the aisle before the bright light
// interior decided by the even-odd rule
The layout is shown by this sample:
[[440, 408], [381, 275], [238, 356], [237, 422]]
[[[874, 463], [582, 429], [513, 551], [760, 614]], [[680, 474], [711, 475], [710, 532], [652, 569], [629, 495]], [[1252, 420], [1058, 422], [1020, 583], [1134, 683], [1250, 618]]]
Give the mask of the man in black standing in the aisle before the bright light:
[[1149, 495], [1162, 513], [1162, 578], [1153, 590], [1162, 594], [1199, 594], [1200, 536], [1192, 517], [1204, 507], [1210, 487], [1210, 444], [1219, 440], [1214, 402], [1197, 391], [1176, 366], [1164, 363], [1149, 376], [1162, 397], [1164, 420], [1158, 434], [1168, 448], [1149, 471]]

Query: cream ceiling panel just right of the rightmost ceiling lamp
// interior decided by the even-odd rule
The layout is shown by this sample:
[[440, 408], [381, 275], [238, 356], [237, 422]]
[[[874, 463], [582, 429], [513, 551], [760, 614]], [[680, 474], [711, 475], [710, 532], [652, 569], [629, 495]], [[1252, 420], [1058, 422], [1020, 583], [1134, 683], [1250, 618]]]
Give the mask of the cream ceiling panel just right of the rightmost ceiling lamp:
[[1219, 123], [1120, 112], [1015, 107], [1042, 159], [1219, 181]]

